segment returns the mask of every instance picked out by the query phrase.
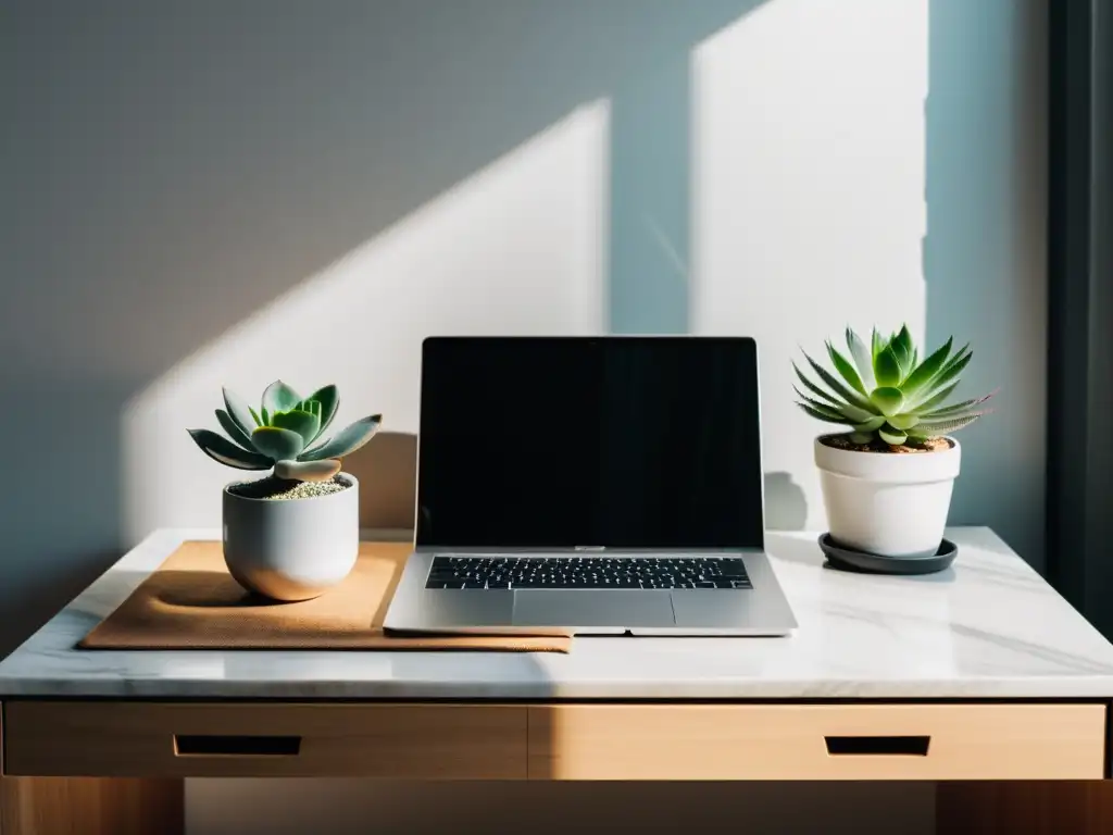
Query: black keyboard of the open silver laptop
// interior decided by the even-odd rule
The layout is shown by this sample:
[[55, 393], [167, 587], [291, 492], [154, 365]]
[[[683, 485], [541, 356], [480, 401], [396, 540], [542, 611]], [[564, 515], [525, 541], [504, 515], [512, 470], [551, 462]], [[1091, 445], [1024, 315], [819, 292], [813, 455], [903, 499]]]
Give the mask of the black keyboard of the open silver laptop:
[[751, 589], [739, 557], [434, 557], [426, 589]]

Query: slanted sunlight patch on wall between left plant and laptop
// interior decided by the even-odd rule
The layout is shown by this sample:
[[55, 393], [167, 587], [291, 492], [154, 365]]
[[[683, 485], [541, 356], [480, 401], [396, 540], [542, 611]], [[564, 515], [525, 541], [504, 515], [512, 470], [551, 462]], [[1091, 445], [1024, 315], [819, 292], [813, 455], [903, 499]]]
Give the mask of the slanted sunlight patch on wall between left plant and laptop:
[[[121, 419], [126, 540], [215, 525], [236, 471], [194, 445], [220, 386], [250, 402], [282, 377], [336, 383], [337, 426], [381, 412], [416, 432], [430, 334], [603, 330], [609, 106], [578, 108], [343, 255], [134, 397]], [[263, 261], [260, 258], [260, 261]]]

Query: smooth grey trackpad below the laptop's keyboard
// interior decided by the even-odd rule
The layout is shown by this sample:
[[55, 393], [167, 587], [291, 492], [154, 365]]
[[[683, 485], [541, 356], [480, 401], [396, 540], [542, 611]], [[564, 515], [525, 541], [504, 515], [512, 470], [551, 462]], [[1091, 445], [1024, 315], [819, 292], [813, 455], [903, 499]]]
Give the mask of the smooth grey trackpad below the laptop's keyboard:
[[644, 629], [674, 622], [668, 591], [520, 589], [514, 592], [514, 626]]

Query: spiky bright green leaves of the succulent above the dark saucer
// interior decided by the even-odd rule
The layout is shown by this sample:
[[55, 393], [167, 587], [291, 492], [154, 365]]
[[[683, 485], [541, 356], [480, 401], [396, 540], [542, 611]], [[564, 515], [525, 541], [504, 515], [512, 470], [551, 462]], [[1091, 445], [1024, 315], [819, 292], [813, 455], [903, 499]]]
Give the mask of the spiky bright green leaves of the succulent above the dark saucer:
[[988, 410], [978, 411], [977, 406], [992, 397], [993, 392], [961, 403], [946, 403], [973, 355], [968, 344], [952, 354], [953, 341], [948, 338], [919, 362], [907, 325], [888, 338], [874, 328], [869, 346], [848, 327], [846, 344], [853, 362], [827, 342], [827, 354], [838, 376], [804, 354], [826, 389], [792, 363], [805, 389], [815, 395], [810, 397], [794, 385], [800, 397], [797, 405], [817, 420], [849, 426], [849, 439], [858, 444], [922, 444], [955, 432], [987, 413]]

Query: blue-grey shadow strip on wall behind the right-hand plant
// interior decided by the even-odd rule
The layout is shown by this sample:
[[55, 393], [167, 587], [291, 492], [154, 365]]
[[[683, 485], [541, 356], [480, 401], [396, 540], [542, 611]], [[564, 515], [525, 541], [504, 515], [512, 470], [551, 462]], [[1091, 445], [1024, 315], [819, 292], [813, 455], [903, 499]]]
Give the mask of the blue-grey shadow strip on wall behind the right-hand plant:
[[964, 429], [949, 522], [993, 527], [1044, 568], [1046, 0], [933, 0], [927, 98], [927, 335], [993, 389]]

